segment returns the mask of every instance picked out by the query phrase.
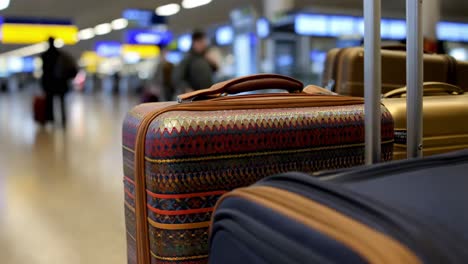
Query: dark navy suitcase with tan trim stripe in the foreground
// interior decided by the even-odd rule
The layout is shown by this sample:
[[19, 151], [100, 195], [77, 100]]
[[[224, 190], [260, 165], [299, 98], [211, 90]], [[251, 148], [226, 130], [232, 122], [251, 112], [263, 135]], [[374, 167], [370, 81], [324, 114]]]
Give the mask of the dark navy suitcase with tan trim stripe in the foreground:
[[467, 171], [463, 151], [267, 178], [220, 199], [209, 263], [466, 263]]

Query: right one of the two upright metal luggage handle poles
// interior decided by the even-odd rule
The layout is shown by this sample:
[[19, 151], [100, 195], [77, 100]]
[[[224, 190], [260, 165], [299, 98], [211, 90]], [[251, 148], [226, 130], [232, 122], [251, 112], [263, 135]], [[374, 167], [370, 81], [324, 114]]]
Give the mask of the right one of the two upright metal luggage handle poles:
[[406, 130], [408, 158], [422, 157], [423, 139], [423, 0], [406, 0]]

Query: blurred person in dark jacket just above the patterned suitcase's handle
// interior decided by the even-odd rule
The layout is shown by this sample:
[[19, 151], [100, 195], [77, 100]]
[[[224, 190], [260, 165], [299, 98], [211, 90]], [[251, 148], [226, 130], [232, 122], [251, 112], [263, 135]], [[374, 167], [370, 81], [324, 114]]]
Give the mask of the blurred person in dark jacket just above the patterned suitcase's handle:
[[178, 94], [213, 85], [214, 73], [219, 66], [208, 51], [205, 32], [195, 30], [192, 34], [192, 47], [174, 72], [173, 80]]

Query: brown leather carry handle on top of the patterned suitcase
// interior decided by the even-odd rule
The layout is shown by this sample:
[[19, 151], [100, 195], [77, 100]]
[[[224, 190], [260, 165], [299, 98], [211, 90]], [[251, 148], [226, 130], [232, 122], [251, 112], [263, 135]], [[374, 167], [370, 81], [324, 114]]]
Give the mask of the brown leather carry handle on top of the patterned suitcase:
[[183, 102], [195, 98], [219, 96], [221, 94], [238, 94], [265, 89], [282, 89], [290, 93], [302, 91], [303, 84], [291, 77], [278, 74], [254, 74], [217, 83], [208, 89], [198, 90], [179, 95], [178, 101]]

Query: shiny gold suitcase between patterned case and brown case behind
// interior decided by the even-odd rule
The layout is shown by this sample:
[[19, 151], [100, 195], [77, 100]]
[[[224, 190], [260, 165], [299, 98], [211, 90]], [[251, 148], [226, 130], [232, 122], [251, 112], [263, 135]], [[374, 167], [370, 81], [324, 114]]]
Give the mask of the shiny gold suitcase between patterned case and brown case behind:
[[[406, 158], [406, 88], [384, 95], [395, 121], [394, 159]], [[468, 94], [445, 83], [424, 83], [424, 156], [468, 148]]]

